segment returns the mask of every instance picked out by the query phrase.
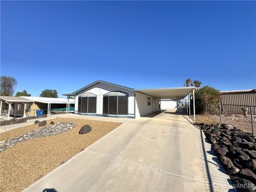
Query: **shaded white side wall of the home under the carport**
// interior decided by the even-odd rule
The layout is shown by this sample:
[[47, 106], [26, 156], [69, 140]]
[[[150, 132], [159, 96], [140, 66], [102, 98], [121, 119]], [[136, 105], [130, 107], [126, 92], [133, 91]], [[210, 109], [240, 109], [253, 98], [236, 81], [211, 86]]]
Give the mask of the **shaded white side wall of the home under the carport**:
[[[148, 97], [151, 98], [151, 105], [148, 106]], [[135, 92], [135, 118], [154, 113], [158, 110], [158, 99], [146, 94]]]

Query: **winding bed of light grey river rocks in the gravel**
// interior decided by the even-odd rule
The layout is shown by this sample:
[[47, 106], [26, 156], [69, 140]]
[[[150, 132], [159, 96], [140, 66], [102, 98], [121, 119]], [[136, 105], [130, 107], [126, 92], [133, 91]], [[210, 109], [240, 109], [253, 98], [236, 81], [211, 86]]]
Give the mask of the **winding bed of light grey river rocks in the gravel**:
[[73, 122], [62, 122], [54, 125], [49, 125], [41, 129], [31, 130], [28, 133], [23, 133], [19, 137], [14, 137], [7, 141], [0, 142], [0, 153], [5, 149], [8, 149], [22, 141], [29, 139], [50, 137], [51, 135], [57, 135], [63, 132], [67, 132], [75, 127]]

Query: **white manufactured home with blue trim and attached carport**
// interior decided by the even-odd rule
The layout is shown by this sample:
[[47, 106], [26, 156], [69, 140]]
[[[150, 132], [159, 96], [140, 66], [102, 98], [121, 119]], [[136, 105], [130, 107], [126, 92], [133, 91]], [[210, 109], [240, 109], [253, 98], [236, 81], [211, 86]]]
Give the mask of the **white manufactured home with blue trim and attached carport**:
[[95, 81], [68, 94], [75, 97], [79, 115], [138, 118], [161, 110], [161, 99], [183, 99], [194, 87], [135, 90]]

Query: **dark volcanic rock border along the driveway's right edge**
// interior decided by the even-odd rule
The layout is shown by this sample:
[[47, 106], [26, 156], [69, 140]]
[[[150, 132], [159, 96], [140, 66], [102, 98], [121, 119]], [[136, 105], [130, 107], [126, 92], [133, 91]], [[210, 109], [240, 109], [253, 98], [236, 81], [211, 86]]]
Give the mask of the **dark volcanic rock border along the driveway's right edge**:
[[227, 124], [197, 124], [217, 153], [235, 187], [256, 191], [256, 142], [250, 133]]

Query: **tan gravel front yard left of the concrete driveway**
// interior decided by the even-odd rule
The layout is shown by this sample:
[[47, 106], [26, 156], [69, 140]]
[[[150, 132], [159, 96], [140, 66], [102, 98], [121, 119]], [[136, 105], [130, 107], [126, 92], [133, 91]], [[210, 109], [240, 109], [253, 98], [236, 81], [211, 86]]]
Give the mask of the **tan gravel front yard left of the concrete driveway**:
[[[21, 191], [42, 178], [79, 151], [114, 130], [121, 123], [92, 121], [74, 118], [56, 118], [47, 121], [74, 122], [72, 130], [53, 135], [21, 142], [0, 154], [0, 191]], [[83, 125], [90, 125], [92, 131], [79, 135]], [[43, 126], [44, 127], [44, 126]], [[1, 134], [1, 140], [10, 139], [21, 133], [38, 129], [38, 125], [29, 125]]]

